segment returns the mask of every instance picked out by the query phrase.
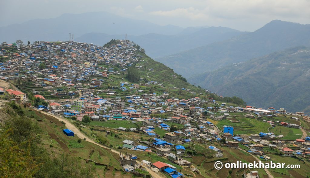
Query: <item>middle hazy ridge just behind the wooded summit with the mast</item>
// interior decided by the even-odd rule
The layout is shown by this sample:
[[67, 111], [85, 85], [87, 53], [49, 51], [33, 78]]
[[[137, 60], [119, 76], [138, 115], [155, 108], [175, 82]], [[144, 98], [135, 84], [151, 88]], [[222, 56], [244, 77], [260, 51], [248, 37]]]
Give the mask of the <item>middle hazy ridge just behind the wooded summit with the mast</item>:
[[[241, 32], [226, 27], [190, 27], [174, 35], [150, 33], [139, 36], [128, 35], [127, 39], [139, 44], [150, 57], [154, 58], [227, 40], [247, 33], [249, 32]], [[125, 34], [87, 33], [76, 38], [75, 41], [103, 45], [111, 39], [125, 39]]]

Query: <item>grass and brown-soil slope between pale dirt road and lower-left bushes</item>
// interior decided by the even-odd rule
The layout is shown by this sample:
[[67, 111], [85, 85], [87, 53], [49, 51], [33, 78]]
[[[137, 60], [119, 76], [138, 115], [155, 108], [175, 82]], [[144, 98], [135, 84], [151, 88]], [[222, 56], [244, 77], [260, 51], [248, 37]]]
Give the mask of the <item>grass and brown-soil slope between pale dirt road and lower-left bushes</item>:
[[[104, 175], [108, 174], [113, 177], [112, 171], [114, 168], [117, 170], [122, 169], [118, 162], [118, 155], [115, 153], [84, 140], [78, 143], [78, 137], [64, 135], [62, 130], [66, 128], [65, 125], [54, 117], [40, 114], [29, 108], [25, 109], [22, 107], [22, 109], [26, 116], [33, 119], [33, 121], [37, 122], [38, 126], [42, 128], [42, 142], [51, 157], [59, 157], [60, 154], [66, 153], [84, 159], [92, 159], [96, 162], [108, 165], [108, 167], [96, 166], [96, 177], [106, 177]], [[86, 162], [82, 161], [82, 165], [86, 165]], [[122, 172], [115, 171], [115, 177], [118, 177], [117, 175], [122, 175]], [[131, 177], [130, 175], [126, 177], [128, 176]]]

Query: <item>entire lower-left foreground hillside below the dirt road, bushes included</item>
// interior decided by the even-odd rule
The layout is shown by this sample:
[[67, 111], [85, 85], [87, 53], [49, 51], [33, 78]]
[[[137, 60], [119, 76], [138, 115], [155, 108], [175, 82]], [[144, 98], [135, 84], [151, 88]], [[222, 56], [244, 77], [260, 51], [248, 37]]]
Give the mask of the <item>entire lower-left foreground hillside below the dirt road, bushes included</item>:
[[[77, 136], [65, 135], [62, 130], [66, 125], [55, 117], [11, 102], [2, 105], [0, 116], [0, 175], [122, 177], [116, 153]], [[90, 130], [80, 129], [89, 135]], [[101, 165], [87, 163], [84, 159]], [[16, 169], [16, 165], [20, 169]]]

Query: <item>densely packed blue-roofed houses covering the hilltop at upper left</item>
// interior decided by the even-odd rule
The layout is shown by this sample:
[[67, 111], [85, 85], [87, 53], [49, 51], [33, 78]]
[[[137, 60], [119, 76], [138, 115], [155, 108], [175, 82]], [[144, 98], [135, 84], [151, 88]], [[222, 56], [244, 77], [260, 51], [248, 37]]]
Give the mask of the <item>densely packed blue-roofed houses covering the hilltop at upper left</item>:
[[[64, 87], [90, 92], [104, 83], [103, 79], [89, 80], [90, 76], [107, 78], [126, 71], [126, 67], [138, 61], [136, 50], [134, 43], [125, 40], [109, 48], [78, 42], [35, 42], [21, 47], [23, 53], [0, 63], [0, 77], [27, 78], [35, 87], [54, 89], [51, 95], [56, 96], [70, 95], [61, 92]], [[101, 64], [117, 67], [105, 68]], [[87, 84], [83, 85], [83, 81]], [[132, 88], [139, 89], [139, 85]]]

